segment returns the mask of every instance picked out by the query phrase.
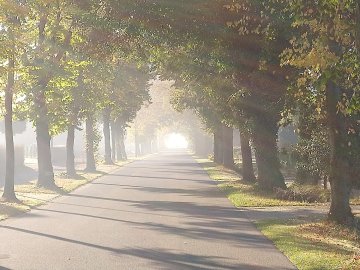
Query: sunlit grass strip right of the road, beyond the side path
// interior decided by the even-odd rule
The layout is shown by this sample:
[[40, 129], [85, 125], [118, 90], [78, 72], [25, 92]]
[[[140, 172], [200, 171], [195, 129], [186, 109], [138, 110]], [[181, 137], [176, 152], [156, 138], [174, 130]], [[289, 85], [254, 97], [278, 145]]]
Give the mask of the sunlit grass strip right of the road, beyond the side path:
[[265, 191], [257, 184], [247, 183], [234, 170], [216, 165], [208, 159], [197, 159], [210, 178], [218, 182], [218, 187], [236, 207], [305, 206], [307, 202], [277, 199], [273, 192]]

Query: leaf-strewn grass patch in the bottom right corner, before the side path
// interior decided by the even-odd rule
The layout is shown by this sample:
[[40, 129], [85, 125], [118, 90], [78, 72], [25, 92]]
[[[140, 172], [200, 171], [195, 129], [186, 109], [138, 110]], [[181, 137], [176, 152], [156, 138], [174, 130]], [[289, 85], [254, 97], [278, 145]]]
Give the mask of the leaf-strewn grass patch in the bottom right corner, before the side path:
[[265, 220], [256, 225], [299, 270], [360, 269], [358, 231], [326, 221]]

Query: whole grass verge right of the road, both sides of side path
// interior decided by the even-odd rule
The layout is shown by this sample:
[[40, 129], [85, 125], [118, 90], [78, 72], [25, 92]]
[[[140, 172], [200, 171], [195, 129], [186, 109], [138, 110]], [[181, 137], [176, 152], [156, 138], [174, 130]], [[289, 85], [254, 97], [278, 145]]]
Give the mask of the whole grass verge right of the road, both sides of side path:
[[[243, 182], [233, 170], [197, 160], [236, 207], [320, 205], [277, 199], [272, 192]], [[256, 226], [300, 270], [360, 269], [360, 232], [355, 229], [310, 217], [258, 220]]]

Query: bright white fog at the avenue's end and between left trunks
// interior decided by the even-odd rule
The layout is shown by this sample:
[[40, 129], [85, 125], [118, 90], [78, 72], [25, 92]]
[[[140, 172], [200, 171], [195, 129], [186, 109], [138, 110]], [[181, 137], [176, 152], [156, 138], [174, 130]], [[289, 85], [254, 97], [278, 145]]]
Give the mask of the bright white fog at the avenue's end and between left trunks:
[[[149, 82], [150, 100], [137, 112], [135, 119], [126, 123], [124, 129], [124, 145], [128, 158], [141, 157], [161, 151], [182, 150], [197, 151], [207, 156], [212, 152], [212, 136], [204, 130], [204, 125], [198, 116], [185, 110], [177, 112], [170, 104], [174, 91], [173, 82], [152, 80]], [[1, 132], [4, 131], [1, 122]], [[96, 159], [104, 162], [105, 143], [103, 123], [98, 116], [95, 130], [99, 134]], [[36, 133], [32, 123], [26, 121], [14, 122], [15, 143], [15, 184], [35, 181], [38, 173]], [[74, 154], [77, 170], [86, 167], [86, 134], [85, 124], [81, 123], [75, 130]], [[0, 183], [4, 184], [5, 173], [5, 139], [0, 136]], [[67, 132], [62, 132], [51, 138], [51, 154], [55, 175], [66, 172], [66, 141]], [[195, 141], [198, 149], [194, 148]], [[115, 146], [116, 148], [116, 146]], [[138, 152], [136, 151], [138, 149]], [[116, 152], [115, 149], [112, 149]], [[120, 161], [116, 153], [114, 161]]]

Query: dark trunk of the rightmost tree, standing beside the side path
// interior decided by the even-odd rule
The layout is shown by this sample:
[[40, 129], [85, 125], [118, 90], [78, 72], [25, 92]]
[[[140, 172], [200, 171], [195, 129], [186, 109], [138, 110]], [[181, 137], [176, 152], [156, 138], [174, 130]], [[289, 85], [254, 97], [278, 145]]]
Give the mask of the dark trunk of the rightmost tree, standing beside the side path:
[[326, 89], [327, 125], [331, 148], [330, 174], [331, 205], [329, 219], [340, 224], [353, 225], [354, 215], [350, 208], [350, 193], [352, 189], [351, 156], [349, 154], [345, 118], [337, 112], [341, 100], [341, 90], [333, 82]]

